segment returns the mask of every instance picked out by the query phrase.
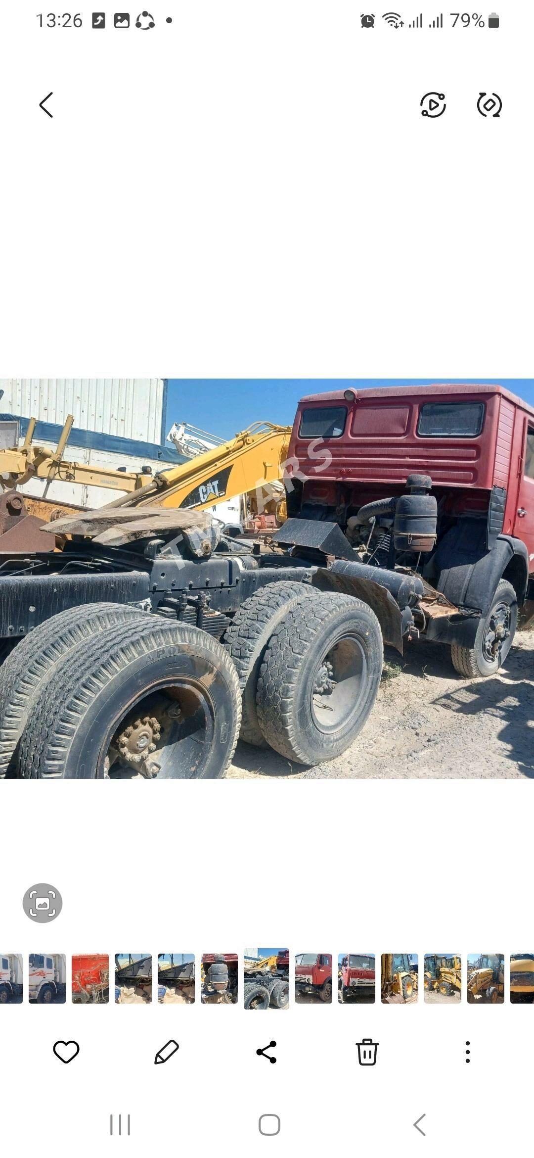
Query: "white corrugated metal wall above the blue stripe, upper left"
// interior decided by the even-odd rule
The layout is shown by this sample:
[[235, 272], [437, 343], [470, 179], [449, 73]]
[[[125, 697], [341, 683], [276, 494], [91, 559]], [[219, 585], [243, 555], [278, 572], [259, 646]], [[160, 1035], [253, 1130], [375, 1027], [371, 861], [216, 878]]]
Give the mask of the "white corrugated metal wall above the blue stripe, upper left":
[[166, 380], [163, 378], [6, 378], [0, 410], [139, 442], [165, 440]]

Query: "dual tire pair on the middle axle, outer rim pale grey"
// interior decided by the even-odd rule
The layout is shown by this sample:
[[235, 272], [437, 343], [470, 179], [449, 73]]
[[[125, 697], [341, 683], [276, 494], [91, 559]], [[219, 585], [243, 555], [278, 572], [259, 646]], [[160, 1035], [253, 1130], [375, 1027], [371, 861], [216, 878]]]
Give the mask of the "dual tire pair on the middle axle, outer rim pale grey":
[[269, 584], [243, 604], [224, 644], [238, 665], [243, 740], [310, 765], [356, 739], [384, 661], [380, 624], [366, 603], [303, 584]]

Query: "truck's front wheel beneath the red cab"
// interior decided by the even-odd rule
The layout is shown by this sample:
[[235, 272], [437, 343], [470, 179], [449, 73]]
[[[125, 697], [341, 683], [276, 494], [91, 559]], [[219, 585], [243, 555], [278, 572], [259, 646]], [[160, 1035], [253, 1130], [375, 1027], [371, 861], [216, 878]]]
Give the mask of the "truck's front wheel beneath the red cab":
[[516, 592], [511, 582], [500, 579], [489, 614], [480, 621], [474, 647], [458, 647], [455, 644], [451, 647], [457, 672], [468, 680], [495, 675], [512, 646], [517, 625]]

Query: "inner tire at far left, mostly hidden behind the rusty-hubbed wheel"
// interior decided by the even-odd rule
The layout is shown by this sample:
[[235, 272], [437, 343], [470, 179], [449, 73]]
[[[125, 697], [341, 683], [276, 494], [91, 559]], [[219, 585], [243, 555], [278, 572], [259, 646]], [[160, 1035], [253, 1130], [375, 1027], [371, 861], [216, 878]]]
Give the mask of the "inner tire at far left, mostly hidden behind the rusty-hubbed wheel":
[[98, 631], [144, 618], [139, 607], [84, 603], [52, 615], [21, 639], [0, 668], [0, 776], [17, 776], [22, 731], [55, 665]]

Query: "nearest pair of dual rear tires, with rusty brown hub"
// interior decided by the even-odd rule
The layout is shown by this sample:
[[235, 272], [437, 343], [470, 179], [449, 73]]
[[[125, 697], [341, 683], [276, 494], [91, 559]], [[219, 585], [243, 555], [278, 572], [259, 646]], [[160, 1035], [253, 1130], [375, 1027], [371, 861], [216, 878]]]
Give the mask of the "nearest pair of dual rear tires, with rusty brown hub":
[[53, 616], [1, 668], [3, 775], [103, 778], [126, 768], [215, 778], [240, 719], [235, 667], [196, 628], [101, 604]]

